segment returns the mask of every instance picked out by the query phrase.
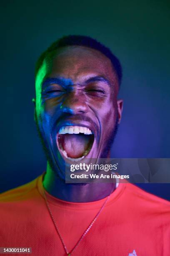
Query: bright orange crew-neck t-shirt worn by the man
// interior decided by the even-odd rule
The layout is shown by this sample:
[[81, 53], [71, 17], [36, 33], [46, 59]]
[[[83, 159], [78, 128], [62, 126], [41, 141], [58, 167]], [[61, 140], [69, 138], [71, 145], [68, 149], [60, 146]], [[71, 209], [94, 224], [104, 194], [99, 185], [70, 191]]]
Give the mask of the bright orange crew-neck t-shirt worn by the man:
[[[71, 251], [105, 199], [74, 203], [46, 196]], [[32, 247], [35, 256], [66, 255], [43, 198], [42, 175], [0, 195], [0, 247]], [[170, 255], [170, 202], [120, 183], [72, 255]]]

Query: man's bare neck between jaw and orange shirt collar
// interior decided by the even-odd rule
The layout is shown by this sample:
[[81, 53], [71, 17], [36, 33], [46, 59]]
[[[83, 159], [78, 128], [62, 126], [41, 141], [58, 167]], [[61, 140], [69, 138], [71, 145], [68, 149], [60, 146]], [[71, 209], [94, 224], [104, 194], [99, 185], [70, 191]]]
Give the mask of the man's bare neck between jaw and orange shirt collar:
[[107, 197], [116, 183], [67, 184], [52, 171], [47, 163], [43, 180], [45, 190], [52, 196], [68, 202], [92, 202]]

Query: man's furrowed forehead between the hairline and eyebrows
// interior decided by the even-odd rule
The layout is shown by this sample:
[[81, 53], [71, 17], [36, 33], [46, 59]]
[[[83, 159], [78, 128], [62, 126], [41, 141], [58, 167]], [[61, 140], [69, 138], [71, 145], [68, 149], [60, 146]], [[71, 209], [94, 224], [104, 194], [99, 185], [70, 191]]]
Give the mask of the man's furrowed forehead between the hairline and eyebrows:
[[114, 82], [117, 79], [110, 59], [95, 49], [84, 46], [67, 46], [58, 49], [53, 56], [47, 56], [49, 77], [64, 77], [73, 83], [80, 82], [83, 77], [103, 76]]

